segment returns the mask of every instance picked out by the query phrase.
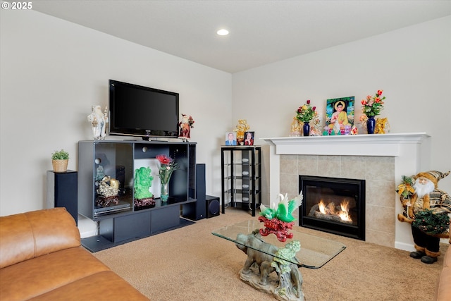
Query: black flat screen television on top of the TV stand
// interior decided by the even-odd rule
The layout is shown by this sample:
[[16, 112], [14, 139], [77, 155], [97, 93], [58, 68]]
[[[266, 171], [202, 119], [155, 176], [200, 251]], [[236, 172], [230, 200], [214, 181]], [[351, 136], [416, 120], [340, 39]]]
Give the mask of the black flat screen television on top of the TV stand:
[[178, 93], [109, 80], [109, 133], [178, 137]]

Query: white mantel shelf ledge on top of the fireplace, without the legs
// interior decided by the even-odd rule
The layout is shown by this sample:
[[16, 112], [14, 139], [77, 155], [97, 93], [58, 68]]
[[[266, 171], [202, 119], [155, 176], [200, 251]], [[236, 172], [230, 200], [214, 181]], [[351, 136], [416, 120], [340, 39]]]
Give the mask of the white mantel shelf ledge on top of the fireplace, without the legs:
[[381, 135], [339, 135], [261, 138], [276, 146], [276, 154], [317, 154], [337, 156], [399, 156], [400, 145], [419, 145], [426, 133]]

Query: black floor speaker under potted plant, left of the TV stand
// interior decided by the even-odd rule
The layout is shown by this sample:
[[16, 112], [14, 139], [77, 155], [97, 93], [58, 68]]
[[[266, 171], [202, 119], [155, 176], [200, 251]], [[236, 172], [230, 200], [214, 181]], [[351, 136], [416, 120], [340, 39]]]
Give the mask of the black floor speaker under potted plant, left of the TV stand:
[[78, 222], [78, 173], [47, 171], [47, 208], [66, 207]]

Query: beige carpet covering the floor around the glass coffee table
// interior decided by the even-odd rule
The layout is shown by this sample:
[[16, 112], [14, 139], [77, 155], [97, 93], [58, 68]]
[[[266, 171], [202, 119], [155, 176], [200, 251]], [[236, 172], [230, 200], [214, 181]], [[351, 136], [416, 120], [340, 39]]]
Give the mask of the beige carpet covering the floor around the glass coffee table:
[[[240, 280], [238, 271], [245, 253], [233, 242], [211, 234], [247, 219], [257, 217], [240, 209], [226, 209], [226, 214], [94, 256], [153, 301], [275, 300]], [[321, 269], [300, 269], [307, 301], [433, 300], [443, 257], [434, 264], [423, 264], [410, 258], [407, 251], [307, 228], [305, 232], [347, 246]], [[440, 251], [445, 252], [447, 247], [442, 244]]]

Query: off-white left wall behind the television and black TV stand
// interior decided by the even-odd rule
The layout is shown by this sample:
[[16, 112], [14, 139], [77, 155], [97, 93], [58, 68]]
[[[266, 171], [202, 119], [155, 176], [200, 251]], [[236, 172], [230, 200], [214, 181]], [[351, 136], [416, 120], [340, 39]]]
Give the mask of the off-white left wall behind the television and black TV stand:
[[206, 191], [221, 195], [232, 75], [35, 11], [1, 10], [0, 39], [1, 216], [44, 207], [54, 150], [77, 169], [77, 142], [92, 140], [87, 116], [108, 104], [110, 78], [180, 93]]

